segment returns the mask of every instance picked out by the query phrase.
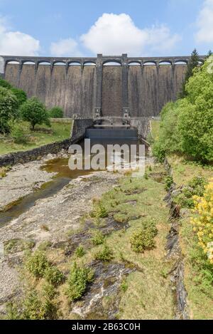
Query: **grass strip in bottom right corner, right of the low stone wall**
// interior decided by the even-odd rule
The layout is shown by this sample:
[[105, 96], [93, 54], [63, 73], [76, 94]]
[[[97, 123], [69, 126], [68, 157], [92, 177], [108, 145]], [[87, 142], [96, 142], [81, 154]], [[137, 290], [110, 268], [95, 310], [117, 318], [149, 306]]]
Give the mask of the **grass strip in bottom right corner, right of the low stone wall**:
[[185, 288], [190, 306], [190, 318], [194, 320], [213, 319], [213, 277], [212, 265], [204, 259], [205, 255], [197, 246], [190, 219], [181, 221], [180, 243], [185, 256]]

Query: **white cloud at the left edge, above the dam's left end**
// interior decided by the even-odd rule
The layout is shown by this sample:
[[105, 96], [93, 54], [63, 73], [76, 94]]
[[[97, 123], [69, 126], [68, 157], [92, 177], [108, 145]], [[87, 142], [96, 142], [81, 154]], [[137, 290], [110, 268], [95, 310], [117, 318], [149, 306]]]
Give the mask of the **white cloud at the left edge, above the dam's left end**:
[[40, 42], [19, 31], [10, 31], [6, 19], [0, 17], [0, 54], [10, 56], [36, 56]]

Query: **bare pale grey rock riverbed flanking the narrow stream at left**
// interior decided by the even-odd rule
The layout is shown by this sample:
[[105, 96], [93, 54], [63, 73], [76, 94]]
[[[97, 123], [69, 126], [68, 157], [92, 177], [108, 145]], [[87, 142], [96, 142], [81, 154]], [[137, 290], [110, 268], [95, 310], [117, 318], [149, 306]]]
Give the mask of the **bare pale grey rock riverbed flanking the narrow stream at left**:
[[[56, 156], [17, 165], [1, 179], [1, 207], [35, 191], [50, 181], [55, 173], [40, 167]], [[60, 157], [65, 157], [62, 152]], [[37, 249], [43, 241], [52, 245], [67, 241], [70, 231], [80, 229], [82, 217], [92, 209], [92, 199], [100, 197], [114, 187], [121, 174], [94, 172], [72, 179], [52, 197], [39, 199], [33, 207], [23, 212], [0, 229], [0, 311], [4, 313], [6, 302], [20, 290], [18, 266], [23, 261], [24, 245]], [[13, 251], [6, 251], [16, 244]], [[18, 246], [19, 245], [19, 246]], [[20, 291], [19, 291], [20, 292]]]

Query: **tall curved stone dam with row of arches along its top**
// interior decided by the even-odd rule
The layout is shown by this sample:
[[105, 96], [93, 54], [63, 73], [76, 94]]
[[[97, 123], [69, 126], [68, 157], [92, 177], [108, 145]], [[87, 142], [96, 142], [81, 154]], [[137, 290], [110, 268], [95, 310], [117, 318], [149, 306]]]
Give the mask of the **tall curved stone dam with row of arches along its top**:
[[[204, 56], [200, 62], [204, 62]], [[174, 101], [190, 57], [96, 58], [0, 56], [0, 75], [67, 118], [125, 119], [138, 127]], [[138, 123], [138, 120], [140, 122]], [[109, 120], [108, 120], [109, 121]], [[102, 121], [103, 122], [103, 121]], [[99, 123], [99, 124], [102, 124]], [[141, 125], [143, 127], [143, 125]], [[139, 130], [146, 137], [146, 128]]]

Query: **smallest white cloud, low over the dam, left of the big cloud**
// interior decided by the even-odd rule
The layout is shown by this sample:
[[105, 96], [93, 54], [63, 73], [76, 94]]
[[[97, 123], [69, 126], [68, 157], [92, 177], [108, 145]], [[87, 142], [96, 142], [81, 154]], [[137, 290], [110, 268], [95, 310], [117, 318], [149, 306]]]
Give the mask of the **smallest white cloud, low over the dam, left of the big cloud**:
[[78, 49], [78, 43], [75, 41], [75, 39], [72, 38], [60, 39], [58, 42], [51, 43], [50, 53], [55, 57], [81, 56], [81, 53]]

